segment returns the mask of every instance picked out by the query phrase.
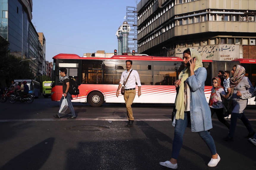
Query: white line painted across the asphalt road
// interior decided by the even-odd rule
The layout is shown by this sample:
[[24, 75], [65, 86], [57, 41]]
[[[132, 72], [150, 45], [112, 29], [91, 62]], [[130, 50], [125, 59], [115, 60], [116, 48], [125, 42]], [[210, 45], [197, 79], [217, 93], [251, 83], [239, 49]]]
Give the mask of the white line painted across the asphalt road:
[[[76, 118], [72, 120], [89, 120], [89, 121], [127, 121], [127, 119], [111, 119], [111, 118], [96, 118], [96, 119], [90, 119], [90, 118]], [[31, 122], [31, 121], [72, 121], [66, 118], [61, 118], [61, 119], [7, 119], [7, 120], [0, 120], [0, 122]], [[135, 119], [135, 121], [171, 121], [172, 119]], [[212, 119], [217, 121], [218, 119]], [[256, 119], [248, 119], [249, 121], [256, 121]]]

